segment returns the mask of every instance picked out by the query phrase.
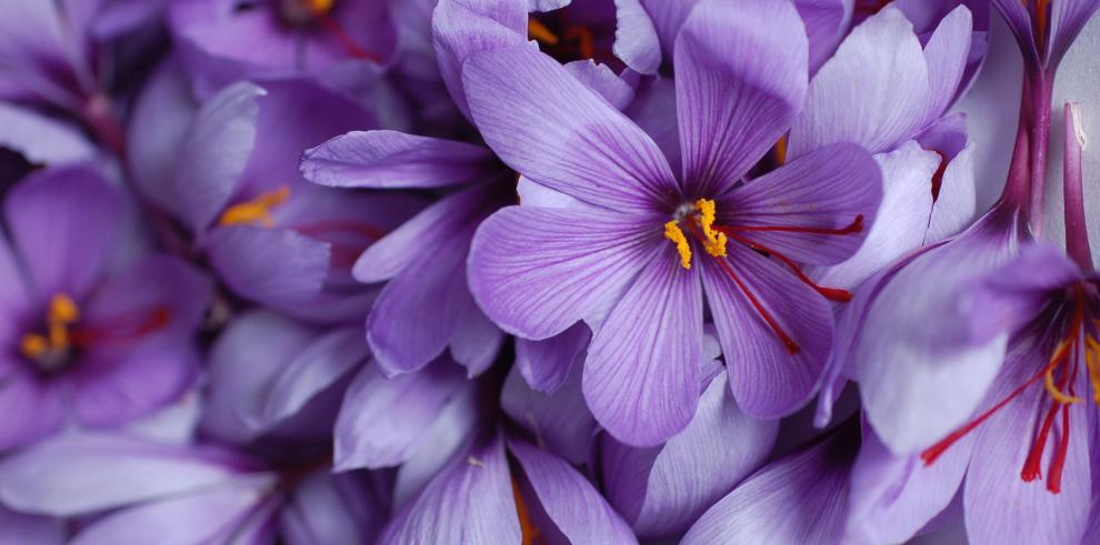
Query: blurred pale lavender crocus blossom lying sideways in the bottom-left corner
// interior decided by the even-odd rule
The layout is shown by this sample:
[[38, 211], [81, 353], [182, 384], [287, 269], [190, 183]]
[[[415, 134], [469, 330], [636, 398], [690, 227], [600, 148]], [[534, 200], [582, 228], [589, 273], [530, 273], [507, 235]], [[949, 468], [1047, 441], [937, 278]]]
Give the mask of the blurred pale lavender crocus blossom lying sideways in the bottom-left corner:
[[[287, 453], [286, 447], [281, 452]], [[67, 543], [368, 543], [386, 506], [327, 458], [266, 461], [214, 445], [70, 434], [0, 463], [0, 499], [23, 513], [102, 515]]]

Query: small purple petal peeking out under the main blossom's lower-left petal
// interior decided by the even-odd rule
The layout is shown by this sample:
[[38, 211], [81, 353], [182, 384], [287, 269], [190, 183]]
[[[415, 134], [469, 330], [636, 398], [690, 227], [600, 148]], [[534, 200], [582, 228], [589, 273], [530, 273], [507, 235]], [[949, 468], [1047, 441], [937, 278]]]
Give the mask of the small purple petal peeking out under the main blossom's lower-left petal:
[[573, 362], [581, 357], [592, 339], [583, 322], [543, 341], [516, 339], [516, 369], [532, 390], [553, 393], [569, 376]]

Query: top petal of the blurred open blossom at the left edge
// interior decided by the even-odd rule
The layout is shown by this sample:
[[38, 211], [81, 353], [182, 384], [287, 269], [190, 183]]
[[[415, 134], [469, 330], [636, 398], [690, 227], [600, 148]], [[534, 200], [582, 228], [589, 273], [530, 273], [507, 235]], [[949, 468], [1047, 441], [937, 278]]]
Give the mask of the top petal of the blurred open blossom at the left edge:
[[122, 202], [93, 171], [51, 169], [12, 188], [4, 213], [38, 296], [80, 301], [107, 266]]

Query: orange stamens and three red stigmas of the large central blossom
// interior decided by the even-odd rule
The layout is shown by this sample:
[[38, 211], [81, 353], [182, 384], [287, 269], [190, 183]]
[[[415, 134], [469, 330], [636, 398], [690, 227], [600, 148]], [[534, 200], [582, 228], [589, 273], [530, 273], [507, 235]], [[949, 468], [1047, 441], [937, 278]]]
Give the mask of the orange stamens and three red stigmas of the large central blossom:
[[684, 233], [684, 229], [702, 244], [703, 250], [714, 259], [727, 276], [737, 285], [738, 290], [749, 300], [764, 323], [771, 329], [789, 353], [797, 354], [798, 343], [783, 330], [779, 322], [771, 315], [768, 309], [761, 303], [749, 286], [741, 281], [733, 270], [727, 256], [726, 245], [730, 240], [741, 243], [766, 258], [774, 258], [783, 263], [791, 273], [800, 281], [813, 287], [822, 296], [838, 302], [851, 301], [852, 295], [847, 290], [836, 287], [824, 287], [818, 285], [802, 272], [802, 269], [794, 260], [783, 255], [772, 248], [753, 241], [748, 233], [752, 232], [788, 232], [788, 233], [813, 233], [824, 235], [846, 235], [858, 233], [863, 230], [863, 216], [858, 215], [851, 224], [841, 229], [808, 228], [798, 225], [719, 225], [717, 223], [717, 205], [711, 199], [699, 199], [694, 203], [681, 204], [672, 214], [672, 220], [664, 223], [664, 238], [676, 245], [680, 254], [680, 266], [691, 269], [691, 243]]

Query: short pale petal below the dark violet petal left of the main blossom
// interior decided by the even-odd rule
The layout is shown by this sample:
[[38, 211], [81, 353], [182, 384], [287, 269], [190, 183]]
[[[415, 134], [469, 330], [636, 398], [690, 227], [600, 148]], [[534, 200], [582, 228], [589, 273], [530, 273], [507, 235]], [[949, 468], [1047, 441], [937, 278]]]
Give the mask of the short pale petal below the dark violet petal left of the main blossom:
[[336, 470], [377, 470], [409, 460], [463, 382], [446, 357], [392, 379], [374, 367], [360, 371], [336, 423]]

